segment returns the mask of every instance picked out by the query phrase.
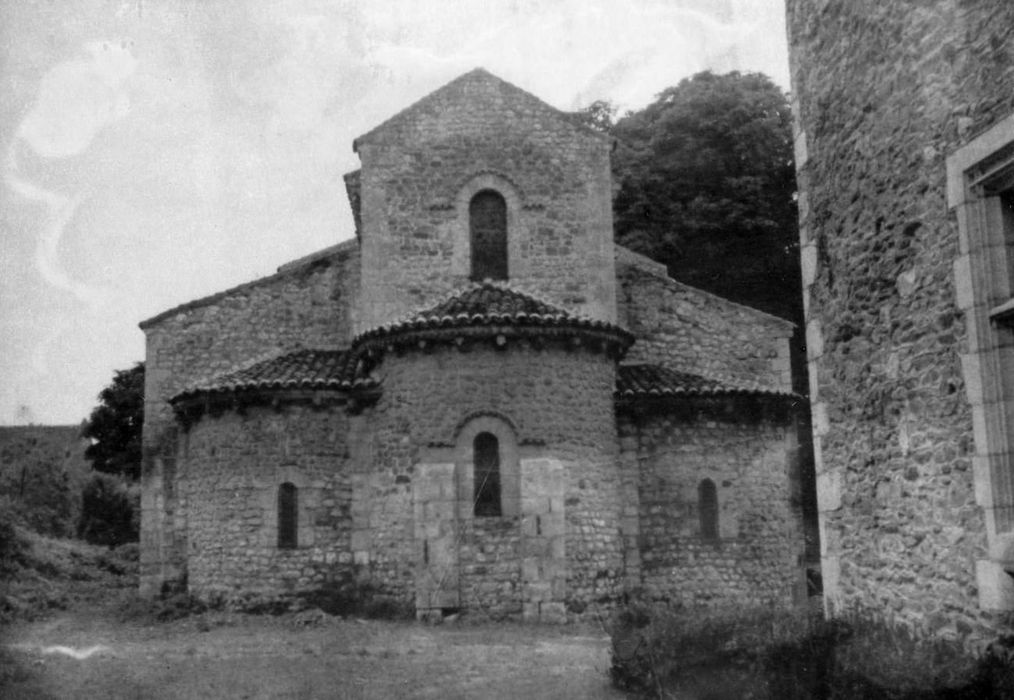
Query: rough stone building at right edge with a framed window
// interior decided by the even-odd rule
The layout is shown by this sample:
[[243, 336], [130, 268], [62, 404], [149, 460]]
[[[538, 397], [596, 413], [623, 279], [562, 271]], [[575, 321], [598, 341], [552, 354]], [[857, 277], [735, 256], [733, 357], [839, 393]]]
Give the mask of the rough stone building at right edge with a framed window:
[[789, 0], [825, 601], [1014, 611], [1014, 3]]

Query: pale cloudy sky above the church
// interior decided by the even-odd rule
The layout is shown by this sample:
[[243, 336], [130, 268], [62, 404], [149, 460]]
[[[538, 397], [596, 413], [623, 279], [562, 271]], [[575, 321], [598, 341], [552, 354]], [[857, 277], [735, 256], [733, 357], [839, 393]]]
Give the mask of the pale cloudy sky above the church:
[[0, 42], [0, 424], [80, 422], [138, 322], [350, 237], [353, 138], [477, 66], [563, 110], [788, 89], [783, 0], [19, 0]]

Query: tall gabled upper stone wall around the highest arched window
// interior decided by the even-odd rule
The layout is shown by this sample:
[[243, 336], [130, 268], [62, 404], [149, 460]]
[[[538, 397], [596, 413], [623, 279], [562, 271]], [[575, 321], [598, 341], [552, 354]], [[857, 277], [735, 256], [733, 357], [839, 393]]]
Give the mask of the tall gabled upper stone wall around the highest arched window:
[[357, 140], [366, 330], [435, 304], [470, 273], [468, 202], [507, 202], [513, 287], [615, 318], [608, 139], [474, 71]]

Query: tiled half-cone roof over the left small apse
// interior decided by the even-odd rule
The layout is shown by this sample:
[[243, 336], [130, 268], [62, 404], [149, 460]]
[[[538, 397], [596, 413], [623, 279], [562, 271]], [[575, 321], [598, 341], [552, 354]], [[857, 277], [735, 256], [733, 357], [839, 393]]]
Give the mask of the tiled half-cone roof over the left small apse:
[[348, 350], [297, 350], [248, 367], [220, 374], [191, 387], [170, 401], [200, 394], [265, 389], [350, 390], [373, 386], [368, 377], [356, 376], [357, 361]]

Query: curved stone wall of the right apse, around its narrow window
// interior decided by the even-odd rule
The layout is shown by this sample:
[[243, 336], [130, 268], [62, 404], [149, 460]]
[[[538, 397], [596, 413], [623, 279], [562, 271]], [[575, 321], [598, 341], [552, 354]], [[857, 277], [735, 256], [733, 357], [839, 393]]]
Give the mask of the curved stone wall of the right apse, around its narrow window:
[[[804, 591], [802, 519], [791, 500], [791, 429], [704, 416], [620, 425], [638, 469], [640, 584], [684, 606], [783, 605]], [[701, 537], [698, 485], [718, 487], [717, 542]]]

